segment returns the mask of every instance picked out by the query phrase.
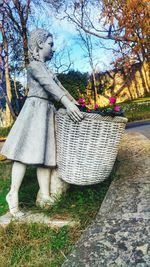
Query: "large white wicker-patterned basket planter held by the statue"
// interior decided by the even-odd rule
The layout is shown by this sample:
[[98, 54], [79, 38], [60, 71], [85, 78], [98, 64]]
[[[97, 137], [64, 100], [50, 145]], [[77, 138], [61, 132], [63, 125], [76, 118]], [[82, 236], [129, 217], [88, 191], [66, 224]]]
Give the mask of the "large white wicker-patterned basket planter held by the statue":
[[74, 123], [65, 109], [56, 114], [59, 177], [70, 184], [102, 182], [113, 168], [126, 118], [84, 113]]

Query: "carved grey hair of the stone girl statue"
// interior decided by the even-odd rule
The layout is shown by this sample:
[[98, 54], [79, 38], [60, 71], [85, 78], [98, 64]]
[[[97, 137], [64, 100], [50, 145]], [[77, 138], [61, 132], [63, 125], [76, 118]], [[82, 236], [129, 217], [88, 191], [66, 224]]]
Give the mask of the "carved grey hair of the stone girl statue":
[[28, 41], [30, 60], [39, 60], [39, 43], [46, 42], [49, 36], [53, 37], [53, 35], [48, 31], [39, 28], [36, 28], [30, 32]]

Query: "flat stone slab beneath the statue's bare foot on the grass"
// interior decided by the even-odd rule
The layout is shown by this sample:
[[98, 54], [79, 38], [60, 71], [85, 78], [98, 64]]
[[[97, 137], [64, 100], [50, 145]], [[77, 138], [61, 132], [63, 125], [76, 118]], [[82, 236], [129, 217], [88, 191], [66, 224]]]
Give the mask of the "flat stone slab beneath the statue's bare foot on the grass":
[[60, 228], [66, 225], [70, 227], [79, 226], [78, 221], [73, 221], [71, 219], [54, 219], [44, 215], [43, 213], [32, 213], [31, 211], [26, 212], [25, 216], [20, 219], [14, 219], [14, 217], [12, 217], [8, 212], [0, 217], [0, 226], [5, 227], [12, 221], [16, 223], [41, 223], [49, 225], [52, 228]]

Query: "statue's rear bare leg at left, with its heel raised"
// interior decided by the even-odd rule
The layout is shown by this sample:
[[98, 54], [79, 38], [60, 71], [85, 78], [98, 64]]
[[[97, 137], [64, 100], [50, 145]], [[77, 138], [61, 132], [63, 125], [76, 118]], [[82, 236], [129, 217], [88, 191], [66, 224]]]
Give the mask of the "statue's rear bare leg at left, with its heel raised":
[[[9, 211], [12, 215], [17, 216], [19, 212], [19, 189], [24, 178], [26, 165], [21, 162], [14, 162], [12, 167], [11, 188], [6, 196]], [[19, 215], [19, 214], [18, 214]], [[21, 213], [20, 213], [21, 215]], [[22, 214], [23, 215], [23, 214]]]

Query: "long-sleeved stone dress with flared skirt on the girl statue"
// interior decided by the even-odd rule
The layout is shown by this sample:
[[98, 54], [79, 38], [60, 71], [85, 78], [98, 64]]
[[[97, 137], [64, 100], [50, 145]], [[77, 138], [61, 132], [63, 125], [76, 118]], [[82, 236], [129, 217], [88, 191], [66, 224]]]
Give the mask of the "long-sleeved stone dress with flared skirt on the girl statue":
[[27, 69], [29, 93], [1, 154], [25, 164], [56, 167], [55, 108], [52, 101], [72, 96], [41, 61]]

